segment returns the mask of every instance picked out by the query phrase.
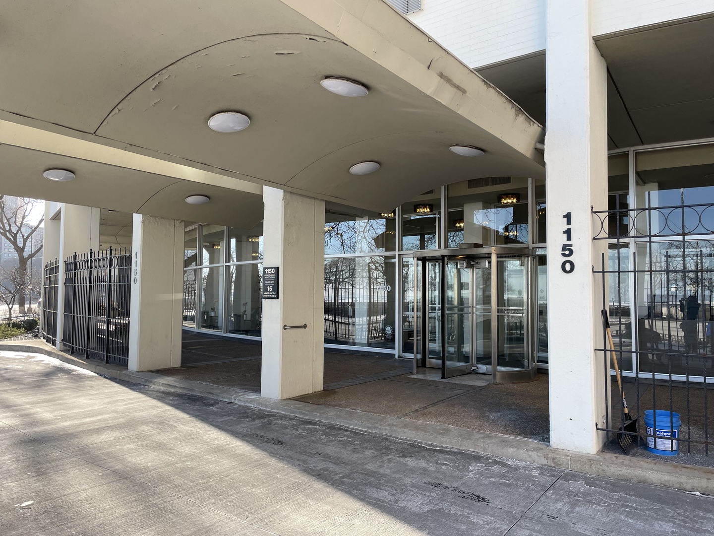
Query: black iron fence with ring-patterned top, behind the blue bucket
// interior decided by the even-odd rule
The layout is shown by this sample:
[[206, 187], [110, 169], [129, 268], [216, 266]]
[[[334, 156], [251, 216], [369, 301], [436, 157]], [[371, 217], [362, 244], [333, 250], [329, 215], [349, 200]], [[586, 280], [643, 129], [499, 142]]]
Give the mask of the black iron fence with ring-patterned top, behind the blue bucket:
[[[593, 271], [602, 277], [614, 342], [610, 348], [603, 328], [597, 351], [610, 378], [605, 384], [612, 419], [598, 430], [614, 437], [625, 422], [612, 372], [614, 350], [630, 415], [637, 419], [638, 442], [708, 456], [714, 428], [708, 411], [714, 387], [714, 205], [593, 214], [600, 223], [593, 238], [610, 242]], [[648, 410], [668, 413], [655, 413], [659, 422], [648, 427]], [[678, 418], [678, 435], [655, 432], [676, 425]]]

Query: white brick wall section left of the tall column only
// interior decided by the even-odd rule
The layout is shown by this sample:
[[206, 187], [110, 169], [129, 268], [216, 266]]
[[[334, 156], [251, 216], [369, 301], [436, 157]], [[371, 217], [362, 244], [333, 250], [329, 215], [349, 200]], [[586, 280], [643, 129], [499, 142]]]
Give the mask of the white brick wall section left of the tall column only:
[[470, 67], [545, 49], [545, 0], [422, 0], [409, 15]]

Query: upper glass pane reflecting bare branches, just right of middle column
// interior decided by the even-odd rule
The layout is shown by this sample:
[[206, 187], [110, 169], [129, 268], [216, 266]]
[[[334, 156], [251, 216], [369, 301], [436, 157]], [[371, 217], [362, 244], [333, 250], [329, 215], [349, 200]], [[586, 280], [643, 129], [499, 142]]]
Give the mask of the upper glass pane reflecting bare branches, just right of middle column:
[[[325, 224], [325, 252], [340, 253], [371, 253], [384, 251], [393, 243], [386, 234], [384, 219], [358, 219], [348, 222], [333, 222]], [[393, 235], [393, 230], [391, 231]], [[394, 249], [393, 246], [389, 249]]]

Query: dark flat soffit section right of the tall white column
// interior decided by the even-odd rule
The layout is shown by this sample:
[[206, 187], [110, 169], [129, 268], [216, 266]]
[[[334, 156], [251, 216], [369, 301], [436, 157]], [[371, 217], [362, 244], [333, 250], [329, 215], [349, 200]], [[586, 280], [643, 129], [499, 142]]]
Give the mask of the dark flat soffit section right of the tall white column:
[[[714, 16], [643, 28], [595, 43], [624, 111], [620, 147], [714, 137]], [[613, 91], [615, 90], [615, 91]]]

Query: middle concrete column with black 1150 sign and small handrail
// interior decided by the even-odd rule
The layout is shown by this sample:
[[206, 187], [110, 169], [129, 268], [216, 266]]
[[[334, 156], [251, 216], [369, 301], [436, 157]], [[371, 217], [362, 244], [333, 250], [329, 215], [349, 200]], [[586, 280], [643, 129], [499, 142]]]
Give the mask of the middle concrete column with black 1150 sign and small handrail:
[[263, 266], [280, 272], [278, 299], [263, 299], [261, 396], [292, 398], [323, 387], [325, 202], [269, 187], [263, 201]]

